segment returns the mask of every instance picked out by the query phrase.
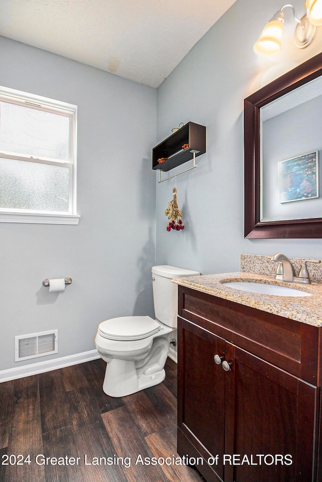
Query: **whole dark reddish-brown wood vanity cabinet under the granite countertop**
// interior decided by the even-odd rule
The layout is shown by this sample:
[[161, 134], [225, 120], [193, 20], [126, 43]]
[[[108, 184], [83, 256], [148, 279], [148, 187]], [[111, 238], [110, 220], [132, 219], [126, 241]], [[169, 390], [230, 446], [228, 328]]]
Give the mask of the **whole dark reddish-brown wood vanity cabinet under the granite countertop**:
[[322, 480], [320, 328], [183, 286], [178, 314], [178, 453], [208, 482]]

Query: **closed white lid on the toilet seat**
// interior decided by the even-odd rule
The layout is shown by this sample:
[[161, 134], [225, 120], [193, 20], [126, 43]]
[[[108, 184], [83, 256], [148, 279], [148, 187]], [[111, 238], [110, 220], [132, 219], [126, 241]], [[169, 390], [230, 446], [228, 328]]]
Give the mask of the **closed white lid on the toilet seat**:
[[121, 316], [99, 324], [99, 333], [110, 340], [140, 340], [157, 333], [160, 325], [149, 316]]

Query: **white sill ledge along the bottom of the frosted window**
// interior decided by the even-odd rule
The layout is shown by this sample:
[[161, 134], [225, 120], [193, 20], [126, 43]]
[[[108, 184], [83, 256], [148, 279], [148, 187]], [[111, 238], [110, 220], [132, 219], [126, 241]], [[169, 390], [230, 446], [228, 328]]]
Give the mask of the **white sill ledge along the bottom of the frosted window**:
[[29, 223], [29, 224], [70, 224], [77, 225], [77, 214], [48, 214], [48, 213], [15, 213], [0, 211], [0, 223]]

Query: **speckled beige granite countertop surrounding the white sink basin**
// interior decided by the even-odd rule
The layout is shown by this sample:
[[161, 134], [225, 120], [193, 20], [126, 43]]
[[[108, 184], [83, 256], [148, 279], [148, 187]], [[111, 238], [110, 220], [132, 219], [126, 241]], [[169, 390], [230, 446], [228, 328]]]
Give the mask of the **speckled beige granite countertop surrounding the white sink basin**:
[[[233, 281], [261, 282], [269, 285], [280, 285], [306, 291], [312, 296], [292, 297], [261, 295], [248, 293], [222, 285]], [[322, 284], [312, 283], [301, 285], [299, 283], [285, 283], [276, 281], [274, 277], [266, 274], [256, 274], [245, 271], [219, 274], [203, 274], [201, 276], [187, 276], [175, 278], [174, 283], [193, 290], [208, 293], [225, 300], [251, 306], [258, 310], [267, 311], [275, 315], [284, 316], [292, 320], [307, 323], [313, 326], [322, 326]]]

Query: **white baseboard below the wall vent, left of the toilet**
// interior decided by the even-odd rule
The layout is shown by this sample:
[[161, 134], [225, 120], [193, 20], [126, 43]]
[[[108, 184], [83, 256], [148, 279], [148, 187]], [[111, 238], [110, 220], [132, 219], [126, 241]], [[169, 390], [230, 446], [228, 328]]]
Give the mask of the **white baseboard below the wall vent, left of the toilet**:
[[50, 372], [58, 368], [70, 367], [78, 363], [85, 363], [91, 360], [100, 358], [96, 350], [90, 352], [76, 353], [68, 357], [55, 358], [53, 360], [46, 360], [44, 362], [32, 363], [30, 365], [23, 365], [17, 368], [9, 368], [8, 370], [0, 371], [0, 383], [8, 382], [9, 380], [16, 380], [17, 378], [30, 377], [38, 373]]

